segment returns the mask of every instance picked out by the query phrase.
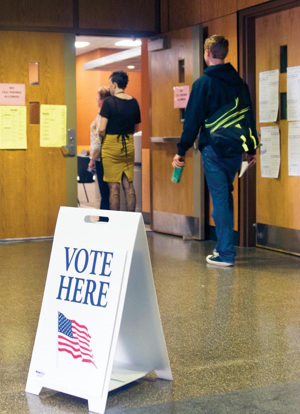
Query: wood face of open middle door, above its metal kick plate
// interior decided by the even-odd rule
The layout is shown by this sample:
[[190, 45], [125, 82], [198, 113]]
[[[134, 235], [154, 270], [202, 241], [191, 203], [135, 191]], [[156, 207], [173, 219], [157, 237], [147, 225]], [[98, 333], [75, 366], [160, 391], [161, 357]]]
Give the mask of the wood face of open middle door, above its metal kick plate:
[[[180, 136], [179, 109], [173, 107], [173, 86], [192, 84], [191, 28], [168, 34], [170, 49], [150, 53], [152, 136]], [[184, 59], [185, 80], [178, 82], [178, 60]], [[170, 182], [175, 144], [152, 144], [152, 208], [193, 216], [192, 149], [187, 152], [180, 184]]]

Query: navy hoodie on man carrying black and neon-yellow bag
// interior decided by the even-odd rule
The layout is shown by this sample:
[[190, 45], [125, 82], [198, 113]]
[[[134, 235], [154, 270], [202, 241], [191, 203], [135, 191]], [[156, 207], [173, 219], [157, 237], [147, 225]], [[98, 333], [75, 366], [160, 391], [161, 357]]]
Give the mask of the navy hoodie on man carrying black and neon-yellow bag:
[[[196, 139], [200, 127], [205, 119], [212, 115], [220, 107], [233, 101], [239, 94], [242, 87], [242, 80], [230, 63], [209, 66], [204, 70], [203, 76], [198, 78], [192, 85], [191, 93], [187, 102], [183, 131], [180, 141], [177, 144], [177, 154], [184, 155]], [[251, 131], [256, 142], [257, 132], [250, 94], [247, 89], [248, 102], [250, 106]], [[201, 151], [208, 145], [208, 138], [205, 130], [199, 133], [198, 148]], [[250, 151], [248, 153], [251, 153]], [[255, 151], [253, 151], [253, 154]]]

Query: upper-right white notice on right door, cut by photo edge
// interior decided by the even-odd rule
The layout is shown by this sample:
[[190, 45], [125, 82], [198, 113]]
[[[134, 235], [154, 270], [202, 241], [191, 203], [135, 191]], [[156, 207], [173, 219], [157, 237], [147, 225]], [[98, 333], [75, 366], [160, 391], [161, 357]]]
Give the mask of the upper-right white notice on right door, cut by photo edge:
[[300, 66], [287, 68], [287, 120], [300, 121]]

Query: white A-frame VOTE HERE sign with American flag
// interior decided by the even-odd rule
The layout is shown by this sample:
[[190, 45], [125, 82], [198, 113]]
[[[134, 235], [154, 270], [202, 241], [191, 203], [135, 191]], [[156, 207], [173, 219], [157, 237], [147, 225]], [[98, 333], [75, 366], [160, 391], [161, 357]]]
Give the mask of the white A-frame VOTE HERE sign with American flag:
[[26, 392], [102, 414], [108, 391], [151, 370], [172, 379], [141, 214], [61, 207]]

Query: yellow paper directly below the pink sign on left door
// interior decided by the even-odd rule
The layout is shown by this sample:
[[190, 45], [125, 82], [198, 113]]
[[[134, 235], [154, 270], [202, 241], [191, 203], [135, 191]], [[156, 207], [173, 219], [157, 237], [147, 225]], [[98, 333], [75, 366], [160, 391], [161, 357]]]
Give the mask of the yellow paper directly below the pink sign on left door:
[[0, 149], [26, 149], [26, 106], [0, 106]]

